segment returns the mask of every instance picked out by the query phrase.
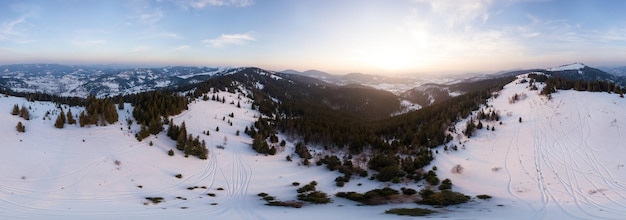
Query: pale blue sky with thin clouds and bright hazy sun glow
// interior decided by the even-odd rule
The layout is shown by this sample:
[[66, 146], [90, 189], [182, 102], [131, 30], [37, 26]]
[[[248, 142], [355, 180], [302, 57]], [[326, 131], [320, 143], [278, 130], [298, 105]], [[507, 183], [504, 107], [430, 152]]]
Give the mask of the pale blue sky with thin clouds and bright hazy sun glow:
[[626, 66], [626, 1], [3, 0], [0, 63], [335, 74]]

